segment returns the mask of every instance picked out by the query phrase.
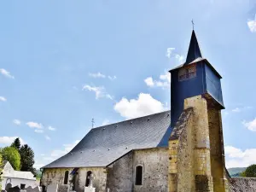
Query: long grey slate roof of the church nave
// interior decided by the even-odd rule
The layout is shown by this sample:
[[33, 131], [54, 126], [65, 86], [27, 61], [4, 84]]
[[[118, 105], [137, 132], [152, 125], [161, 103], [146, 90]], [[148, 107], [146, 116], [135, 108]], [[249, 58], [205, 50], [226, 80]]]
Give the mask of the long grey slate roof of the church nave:
[[43, 168], [108, 166], [139, 148], [167, 147], [171, 111], [105, 125], [90, 132], [72, 151]]

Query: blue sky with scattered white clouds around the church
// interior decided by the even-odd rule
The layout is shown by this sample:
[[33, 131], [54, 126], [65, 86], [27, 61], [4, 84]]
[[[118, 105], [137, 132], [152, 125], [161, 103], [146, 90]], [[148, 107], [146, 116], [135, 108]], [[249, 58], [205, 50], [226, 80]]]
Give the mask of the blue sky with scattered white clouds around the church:
[[223, 77], [226, 166], [256, 164], [256, 0], [1, 1], [0, 147], [42, 167], [94, 127], [170, 109], [191, 20]]

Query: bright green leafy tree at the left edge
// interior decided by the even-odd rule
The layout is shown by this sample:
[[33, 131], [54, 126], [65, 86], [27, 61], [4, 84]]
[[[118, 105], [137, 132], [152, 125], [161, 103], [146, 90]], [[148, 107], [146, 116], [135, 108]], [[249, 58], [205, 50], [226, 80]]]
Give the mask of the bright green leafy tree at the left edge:
[[1, 150], [3, 160], [8, 160], [15, 170], [20, 170], [20, 153], [17, 148], [6, 147]]

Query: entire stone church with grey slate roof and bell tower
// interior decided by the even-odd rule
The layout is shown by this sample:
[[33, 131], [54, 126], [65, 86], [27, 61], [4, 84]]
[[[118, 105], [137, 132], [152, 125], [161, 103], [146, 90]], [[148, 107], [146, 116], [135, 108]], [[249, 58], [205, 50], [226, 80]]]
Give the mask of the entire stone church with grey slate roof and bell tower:
[[93, 176], [96, 192], [256, 191], [256, 180], [231, 178], [225, 168], [222, 77], [194, 30], [186, 61], [170, 73], [171, 111], [91, 129], [42, 168], [41, 185], [83, 192]]

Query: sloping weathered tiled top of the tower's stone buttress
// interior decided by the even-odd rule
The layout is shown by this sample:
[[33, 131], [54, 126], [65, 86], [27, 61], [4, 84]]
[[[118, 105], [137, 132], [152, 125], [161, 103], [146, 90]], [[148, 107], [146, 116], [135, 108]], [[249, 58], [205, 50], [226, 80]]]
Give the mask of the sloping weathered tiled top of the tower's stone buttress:
[[176, 140], [177, 138], [179, 138], [180, 134], [183, 131], [183, 128], [187, 125], [188, 119], [192, 112], [193, 108], [187, 108], [183, 110], [183, 113], [181, 113], [179, 119], [177, 120], [177, 124], [173, 128], [170, 140]]

